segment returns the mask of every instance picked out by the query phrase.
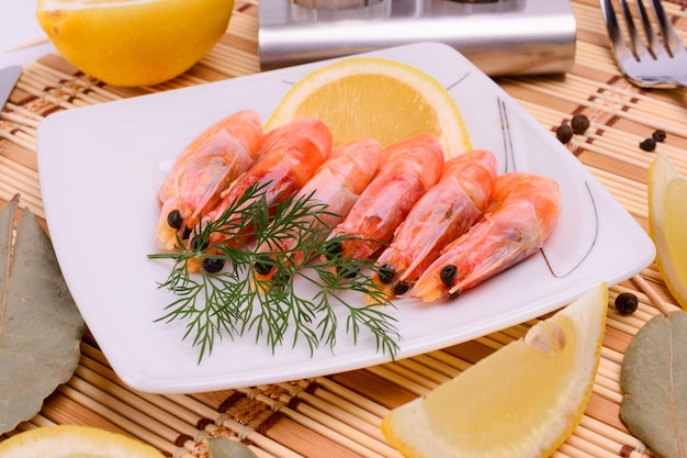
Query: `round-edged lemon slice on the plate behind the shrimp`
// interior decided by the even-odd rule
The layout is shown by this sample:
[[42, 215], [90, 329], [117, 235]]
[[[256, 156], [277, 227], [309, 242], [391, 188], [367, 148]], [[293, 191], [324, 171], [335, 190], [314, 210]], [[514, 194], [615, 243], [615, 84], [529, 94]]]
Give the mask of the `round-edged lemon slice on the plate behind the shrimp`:
[[441, 83], [391, 59], [350, 57], [307, 74], [282, 98], [266, 129], [303, 115], [323, 120], [335, 146], [362, 137], [387, 146], [429, 133], [447, 158], [472, 149], [461, 112]]

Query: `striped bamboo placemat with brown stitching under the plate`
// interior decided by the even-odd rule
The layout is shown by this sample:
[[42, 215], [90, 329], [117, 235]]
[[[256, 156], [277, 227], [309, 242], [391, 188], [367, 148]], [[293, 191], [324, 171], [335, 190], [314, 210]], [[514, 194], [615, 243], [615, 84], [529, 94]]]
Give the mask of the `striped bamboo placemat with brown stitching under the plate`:
[[[554, 129], [585, 113], [592, 127], [570, 144], [572, 154], [647, 227], [646, 167], [655, 154], [639, 143], [663, 129], [658, 145], [687, 172], [687, 97], [684, 90], [640, 90], [618, 72], [597, 0], [573, 0], [577, 21], [575, 66], [566, 75], [498, 78], [497, 82], [542, 125]], [[685, 37], [684, 7], [666, 4]], [[237, 1], [225, 37], [196, 66], [167, 83], [109, 87], [55, 55], [26, 65], [0, 114], [0, 200], [21, 193], [22, 205], [43, 216], [35, 133], [59, 110], [199, 85], [259, 71], [258, 0]], [[617, 294], [638, 294], [630, 316], [615, 312]], [[619, 418], [620, 365], [628, 344], [658, 306], [676, 309], [655, 265], [610, 288], [601, 364], [582, 424], [556, 457], [640, 457], [642, 444]], [[46, 400], [42, 412], [15, 432], [85, 424], [137, 437], [173, 457], [202, 457], [202, 439], [244, 440], [260, 457], [398, 457], [379, 428], [392, 407], [427, 393], [470, 365], [521, 337], [533, 322], [439, 351], [351, 372], [238, 390], [158, 395], [127, 388], [87, 333], [76, 373]]]

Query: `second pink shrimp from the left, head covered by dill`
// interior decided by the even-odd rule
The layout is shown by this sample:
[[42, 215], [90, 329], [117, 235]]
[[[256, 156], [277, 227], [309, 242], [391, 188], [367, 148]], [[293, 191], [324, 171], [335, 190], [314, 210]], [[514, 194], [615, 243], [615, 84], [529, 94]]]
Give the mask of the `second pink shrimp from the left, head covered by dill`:
[[[331, 142], [329, 127], [314, 118], [297, 118], [267, 132], [260, 158], [222, 193], [222, 201], [204, 222], [217, 221], [252, 186], [262, 187], [261, 192], [269, 203], [293, 196], [329, 157]], [[247, 201], [243, 205], [250, 203]], [[216, 244], [232, 237], [235, 244], [244, 243], [238, 235], [215, 232], [210, 235], [210, 241]]]

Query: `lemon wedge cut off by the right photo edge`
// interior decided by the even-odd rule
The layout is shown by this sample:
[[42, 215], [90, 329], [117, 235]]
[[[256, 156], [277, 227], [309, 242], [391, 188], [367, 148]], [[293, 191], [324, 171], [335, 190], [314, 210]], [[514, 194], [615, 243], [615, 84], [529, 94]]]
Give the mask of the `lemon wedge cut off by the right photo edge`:
[[687, 309], [687, 177], [658, 152], [649, 167], [649, 234], [656, 262], [677, 302]]

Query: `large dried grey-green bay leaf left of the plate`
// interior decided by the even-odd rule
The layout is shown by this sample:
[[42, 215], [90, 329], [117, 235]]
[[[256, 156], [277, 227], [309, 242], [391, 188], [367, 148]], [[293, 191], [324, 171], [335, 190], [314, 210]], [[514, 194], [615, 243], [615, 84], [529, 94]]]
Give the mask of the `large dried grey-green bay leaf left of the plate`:
[[18, 206], [15, 196], [0, 209], [0, 433], [71, 377], [85, 328], [35, 215], [24, 210], [13, 231]]

